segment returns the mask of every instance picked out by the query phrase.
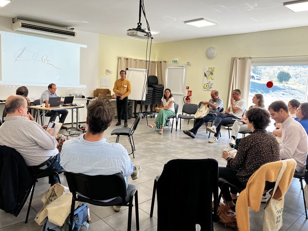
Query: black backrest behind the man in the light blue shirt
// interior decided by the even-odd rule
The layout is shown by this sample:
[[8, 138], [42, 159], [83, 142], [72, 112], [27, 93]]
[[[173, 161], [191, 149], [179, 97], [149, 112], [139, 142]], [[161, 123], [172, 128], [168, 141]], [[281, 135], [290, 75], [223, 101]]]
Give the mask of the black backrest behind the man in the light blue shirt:
[[97, 201], [121, 197], [123, 203], [125, 203], [127, 195], [126, 183], [121, 173], [106, 176], [88, 176], [65, 172], [65, 176], [69, 190], [76, 201], [78, 201], [76, 197], [78, 192], [91, 200]]

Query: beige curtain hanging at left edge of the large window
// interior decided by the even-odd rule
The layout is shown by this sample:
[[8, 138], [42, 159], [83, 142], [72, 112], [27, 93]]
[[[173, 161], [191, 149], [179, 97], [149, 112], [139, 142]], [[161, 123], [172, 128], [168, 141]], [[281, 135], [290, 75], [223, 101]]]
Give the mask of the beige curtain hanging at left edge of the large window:
[[228, 93], [228, 107], [230, 106], [230, 98], [233, 89], [240, 89], [242, 91], [241, 98], [248, 101], [250, 76], [252, 70], [251, 57], [232, 57], [230, 68], [230, 82]]

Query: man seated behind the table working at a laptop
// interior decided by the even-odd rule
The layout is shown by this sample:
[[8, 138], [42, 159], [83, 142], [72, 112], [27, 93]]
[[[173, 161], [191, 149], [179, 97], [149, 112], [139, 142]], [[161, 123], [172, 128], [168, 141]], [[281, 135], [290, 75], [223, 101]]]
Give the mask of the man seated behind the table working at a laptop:
[[[43, 93], [41, 95], [41, 101], [40, 101], [41, 104], [42, 103], [48, 104], [49, 98], [58, 97], [56, 95], [55, 91], [56, 91], [55, 84], [54, 83], [49, 84], [48, 85], [48, 90], [43, 91]], [[67, 110], [56, 110], [56, 111], [50, 110], [45, 115], [47, 117], [50, 117], [49, 122], [52, 122], [52, 121], [55, 121], [57, 115], [61, 114], [59, 122], [64, 124], [64, 121], [65, 121], [65, 118], [67, 116], [67, 113], [68, 113]], [[62, 125], [61, 129], [67, 129], [67, 127]]]

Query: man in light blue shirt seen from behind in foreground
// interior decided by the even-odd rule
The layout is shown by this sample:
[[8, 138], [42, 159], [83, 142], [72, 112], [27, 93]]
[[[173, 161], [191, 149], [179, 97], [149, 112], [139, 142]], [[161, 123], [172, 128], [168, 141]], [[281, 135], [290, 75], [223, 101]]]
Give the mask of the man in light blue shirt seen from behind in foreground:
[[[94, 100], [87, 106], [87, 132], [64, 142], [62, 147], [61, 166], [66, 171], [89, 176], [121, 172], [126, 186], [129, 176], [132, 180], [138, 178], [141, 167], [132, 164], [127, 150], [121, 144], [108, 143], [103, 138], [113, 118], [114, 108], [106, 99]], [[115, 211], [119, 211], [119, 207], [113, 206]]]

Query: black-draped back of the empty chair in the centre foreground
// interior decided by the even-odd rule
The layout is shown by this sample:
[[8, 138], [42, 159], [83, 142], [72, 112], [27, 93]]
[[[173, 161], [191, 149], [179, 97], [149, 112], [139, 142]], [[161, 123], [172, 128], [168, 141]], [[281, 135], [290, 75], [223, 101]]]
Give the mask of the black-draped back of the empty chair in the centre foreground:
[[[187, 174], [189, 172], [189, 174]], [[157, 181], [158, 229], [213, 230], [218, 203], [218, 162], [214, 159], [171, 160]]]

